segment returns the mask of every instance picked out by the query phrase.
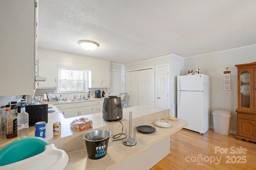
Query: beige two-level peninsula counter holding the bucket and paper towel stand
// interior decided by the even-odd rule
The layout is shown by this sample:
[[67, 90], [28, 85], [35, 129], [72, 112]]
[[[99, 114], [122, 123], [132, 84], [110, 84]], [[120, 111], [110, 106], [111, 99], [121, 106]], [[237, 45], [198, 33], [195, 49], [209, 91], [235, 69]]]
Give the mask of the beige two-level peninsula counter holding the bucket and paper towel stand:
[[[137, 127], [139, 125], [150, 125], [155, 127], [156, 131], [151, 134], [143, 134], [136, 130], [137, 144], [128, 147], [123, 144], [123, 140], [112, 140], [114, 135], [122, 133], [122, 124], [123, 133], [125, 133], [125, 129], [127, 129], [127, 134], [129, 134], [128, 129], [130, 112], [132, 112], [132, 137], [134, 126]], [[78, 132], [70, 128], [70, 123], [75, 118], [80, 117], [87, 117], [92, 119], [93, 127]], [[119, 121], [104, 121], [102, 119], [102, 113], [72, 117], [68, 119], [65, 119], [62, 113], [50, 113], [48, 114], [48, 123], [46, 125], [46, 139], [50, 141], [50, 143], [53, 143], [58, 149], [65, 150], [68, 153], [69, 161], [65, 168], [66, 170], [114, 170], [124, 167], [128, 169], [127, 167], [132, 166], [136, 167], [137, 169], [147, 169], [152, 167], [154, 164], [156, 164], [170, 153], [170, 135], [187, 125], [187, 122], [182, 119], [171, 121], [169, 118], [170, 109], [147, 105], [123, 109], [123, 118], [120, 120], [122, 124]], [[170, 122], [172, 126], [168, 128], [162, 128], [154, 125], [154, 121], [161, 119]], [[52, 125], [56, 121], [60, 121], [62, 124], [62, 134], [58, 137], [53, 137]], [[88, 158], [85, 151], [75, 152], [86, 150], [85, 140], [82, 138], [86, 132], [94, 129], [106, 129], [111, 131], [107, 154], [98, 160], [92, 160]], [[30, 127], [30, 136], [34, 136], [34, 127]], [[4, 141], [8, 142], [3, 143], [2, 139], [4, 138], [5, 136], [1, 137], [0, 149], [11, 141], [15, 141], [17, 139], [5, 138]]]

